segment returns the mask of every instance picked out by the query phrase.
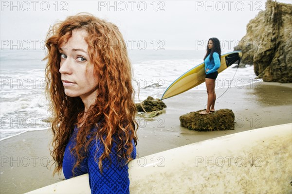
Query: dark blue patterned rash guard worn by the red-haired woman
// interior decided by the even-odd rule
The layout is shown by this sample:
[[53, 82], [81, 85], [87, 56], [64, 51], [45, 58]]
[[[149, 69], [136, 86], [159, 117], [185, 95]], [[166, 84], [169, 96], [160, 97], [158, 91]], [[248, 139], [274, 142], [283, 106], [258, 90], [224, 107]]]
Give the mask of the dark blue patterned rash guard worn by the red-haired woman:
[[[66, 179], [73, 177], [73, 166], [76, 162], [76, 158], [71, 155], [70, 148], [72, 149], [75, 145], [74, 138], [76, 137], [78, 128], [74, 126], [73, 134], [65, 148], [64, 159], [63, 159], [63, 173]], [[134, 141], [133, 152], [131, 157], [136, 158], [136, 147]], [[87, 157], [83, 159], [81, 165], [74, 169], [75, 176], [80, 176], [83, 174], [89, 174], [89, 185], [91, 188], [91, 194], [128, 194], [129, 193], [129, 178], [128, 178], [128, 164], [123, 165], [121, 162], [118, 162], [117, 154], [115, 151], [116, 143], [113, 142], [110, 159], [104, 159], [102, 162], [103, 172], [101, 174], [98, 167], [98, 160], [94, 160], [95, 151], [97, 150], [96, 158], [98, 159], [101, 154], [104, 152], [104, 146], [98, 140], [97, 144], [95, 139], [91, 141], [89, 145], [89, 152]]]

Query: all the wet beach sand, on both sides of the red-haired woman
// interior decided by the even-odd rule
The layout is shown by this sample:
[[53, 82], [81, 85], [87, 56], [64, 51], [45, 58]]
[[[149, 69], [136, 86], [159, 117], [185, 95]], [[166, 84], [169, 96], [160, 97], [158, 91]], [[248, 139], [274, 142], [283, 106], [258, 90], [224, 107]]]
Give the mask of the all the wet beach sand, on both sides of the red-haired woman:
[[[180, 126], [181, 115], [203, 109], [207, 102], [206, 91], [187, 91], [164, 100], [165, 114], [152, 121], [138, 118], [138, 156], [232, 133], [292, 123], [292, 84], [257, 83], [227, 90], [216, 88], [216, 94], [219, 99], [215, 109], [233, 110], [235, 130], [197, 132]], [[43, 130], [0, 141], [1, 194], [25, 193], [64, 179], [62, 174], [53, 177], [52, 162], [46, 167], [52, 159], [49, 152], [51, 140], [51, 132]]]

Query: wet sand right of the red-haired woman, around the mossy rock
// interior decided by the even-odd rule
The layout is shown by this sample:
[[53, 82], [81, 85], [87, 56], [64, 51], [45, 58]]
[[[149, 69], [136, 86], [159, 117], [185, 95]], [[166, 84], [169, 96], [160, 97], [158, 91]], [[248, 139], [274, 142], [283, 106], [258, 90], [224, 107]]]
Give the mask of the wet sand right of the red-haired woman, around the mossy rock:
[[[216, 89], [216, 95], [220, 96], [225, 92], [224, 89], [221, 91]], [[140, 140], [137, 153], [143, 157], [167, 150], [164, 147], [172, 149], [237, 132], [292, 123], [291, 91], [291, 83], [270, 84], [265, 82], [258, 88], [247, 86], [241, 89], [228, 89], [221, 98], [216, 100], [215, 109], [232, 109], [237, 123], [235, 123], [235, 130], [224, 131], [198, 132], [180, 125], [179, 117], [181, 115], [204, 109], [207, 104], [206, 91], [186, 91], [178, 96], [165, 99], [164, 103], [167, 106], [165, 114], [158, 115], [155, 121], [147, 121], [146, 126], [142, 121], [145, 127], [139, 128], [137, 132]], [[148, 138], [153, 138], [153, 136], [156, 138], [155, 140]], [[155, 145], [153, 145], [153, 141]]]

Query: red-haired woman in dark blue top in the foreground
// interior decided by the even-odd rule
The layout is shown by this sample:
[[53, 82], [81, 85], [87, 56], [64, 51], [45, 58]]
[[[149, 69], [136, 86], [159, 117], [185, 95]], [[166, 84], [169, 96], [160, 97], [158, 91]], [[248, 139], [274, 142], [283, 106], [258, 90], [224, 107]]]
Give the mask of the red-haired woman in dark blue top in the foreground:
[[80, 13], [55, 24], [46, 47], [54, 175], [88, 173], [91, 193], [129, 193], [138, 125], [123, 36], [116, 25]]

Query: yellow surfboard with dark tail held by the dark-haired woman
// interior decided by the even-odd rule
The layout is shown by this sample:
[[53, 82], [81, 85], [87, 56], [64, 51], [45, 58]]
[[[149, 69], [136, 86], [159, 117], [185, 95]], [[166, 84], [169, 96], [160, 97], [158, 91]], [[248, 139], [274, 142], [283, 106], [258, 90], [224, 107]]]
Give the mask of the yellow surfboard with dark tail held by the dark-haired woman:
[[[229, 66], [240, 60], [241, 51], [234, 51], [221, 55], [221, 64], [218, 73], [224, 71]], [[239, 63], [238, 63], [239, 64]], [[182, 76], [176, 79], [164, 92], [162, 100], [181, 94], [191, 88], [194, 88], [205, 82], [205, 63], [201, 63], [193, 69], [185, 72]]]

